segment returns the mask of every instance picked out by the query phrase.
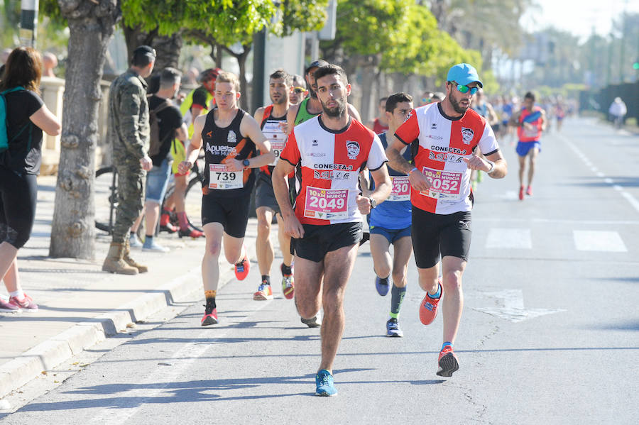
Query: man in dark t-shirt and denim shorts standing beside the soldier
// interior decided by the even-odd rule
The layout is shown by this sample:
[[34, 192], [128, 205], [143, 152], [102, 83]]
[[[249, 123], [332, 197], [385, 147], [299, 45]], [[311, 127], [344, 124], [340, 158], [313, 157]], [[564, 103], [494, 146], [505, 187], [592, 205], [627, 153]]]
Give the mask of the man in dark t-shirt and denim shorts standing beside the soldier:
[[[153, 162], [153, 168], [146, 177], [146, 203], [142, 214], [131, 227], [130, 243], [132, 247], [142, 248], [142, 250], [155, 251], [160, 253], [168, 252], [168, 248], [158, 245], [153, 241], [153, 233], [160, 216], [160, 205], [164, 199], [166, 187], [171, 172], [170, 155], [171, 143], [174, 138], [187, 140], [187, 126], [182, 122], [180, 109], [170, 101], [180, 88], [181, 72], [174, 68], [167, 67], [160, 74], [160, 89], [157, 93], [148, 96], [148, 110], [155, 111], [155, 118], [158, 121], [159, 144], [151, 151], [149, 156]], [[138, 241], [136, 232], [142, 221], [142, 216], [146, 214], [146, 238], [142, 244]]]

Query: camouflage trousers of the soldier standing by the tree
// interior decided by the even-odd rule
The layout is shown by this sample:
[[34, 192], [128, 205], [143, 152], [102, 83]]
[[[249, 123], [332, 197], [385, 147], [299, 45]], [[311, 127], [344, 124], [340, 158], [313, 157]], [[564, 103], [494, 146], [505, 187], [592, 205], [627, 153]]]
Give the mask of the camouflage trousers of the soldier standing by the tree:
[[142, 212], [146, 171], [138, 160], [119, 161], [114, 155], [118, 172], [118, 209], [113, 226], [113, 242], [124, 243], [129, 238], [131, 226]]

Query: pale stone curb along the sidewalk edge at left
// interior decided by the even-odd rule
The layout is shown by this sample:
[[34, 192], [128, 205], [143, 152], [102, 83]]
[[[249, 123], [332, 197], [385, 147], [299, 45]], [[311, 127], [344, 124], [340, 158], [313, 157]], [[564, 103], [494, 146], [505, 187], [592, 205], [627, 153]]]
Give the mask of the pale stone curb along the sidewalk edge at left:
[[[254, 250], [255, 243], [245, 243], [245, 246], [249, 258], [254, 256], [249, 246]], [[220, 258], [219, 265], [219, 289], [222, 289], [234, 272], [232, 268], [227, 267], [228, 263], [223, 256]], [[116, 335], [125, 330], [128, 324], [146, 319], [160, 309], [170, 306], [173, 302], [185, 299], [201, 287], [200, 267], [194, 267], [184, 275], [158, 287], [153, 293], [143, 294], [91, 321], [75, 324], [70, 329], [38, 344], [19, 357], [0, 366], [0, 399], [31, 382], [43, 371], [55, 368], [96, 343]]]

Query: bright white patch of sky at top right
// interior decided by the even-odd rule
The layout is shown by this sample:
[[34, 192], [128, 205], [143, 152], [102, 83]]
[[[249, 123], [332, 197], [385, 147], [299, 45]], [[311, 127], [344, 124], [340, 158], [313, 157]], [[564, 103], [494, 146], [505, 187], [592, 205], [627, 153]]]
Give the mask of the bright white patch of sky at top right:
[[583, 42], [594, 26], [595, 32], [608, 35], [613, 18], [624, 9], [639, 13], [638, 0], [535, 0], [539, 7], [530, 8], [520, 23], [528, 31], [554, 26], [574, 35]]

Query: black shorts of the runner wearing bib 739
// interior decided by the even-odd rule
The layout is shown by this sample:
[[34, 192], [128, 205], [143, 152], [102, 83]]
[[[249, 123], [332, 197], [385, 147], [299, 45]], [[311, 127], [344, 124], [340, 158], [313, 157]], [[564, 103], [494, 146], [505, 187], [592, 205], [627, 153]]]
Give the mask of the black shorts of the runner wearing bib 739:
[[249, 222], [251, 197], [215, 197], [202, 195], [202, 226], [207, 223], [220, 223], [224, 232], [234, 238], [244, 238], [246, 223]]

